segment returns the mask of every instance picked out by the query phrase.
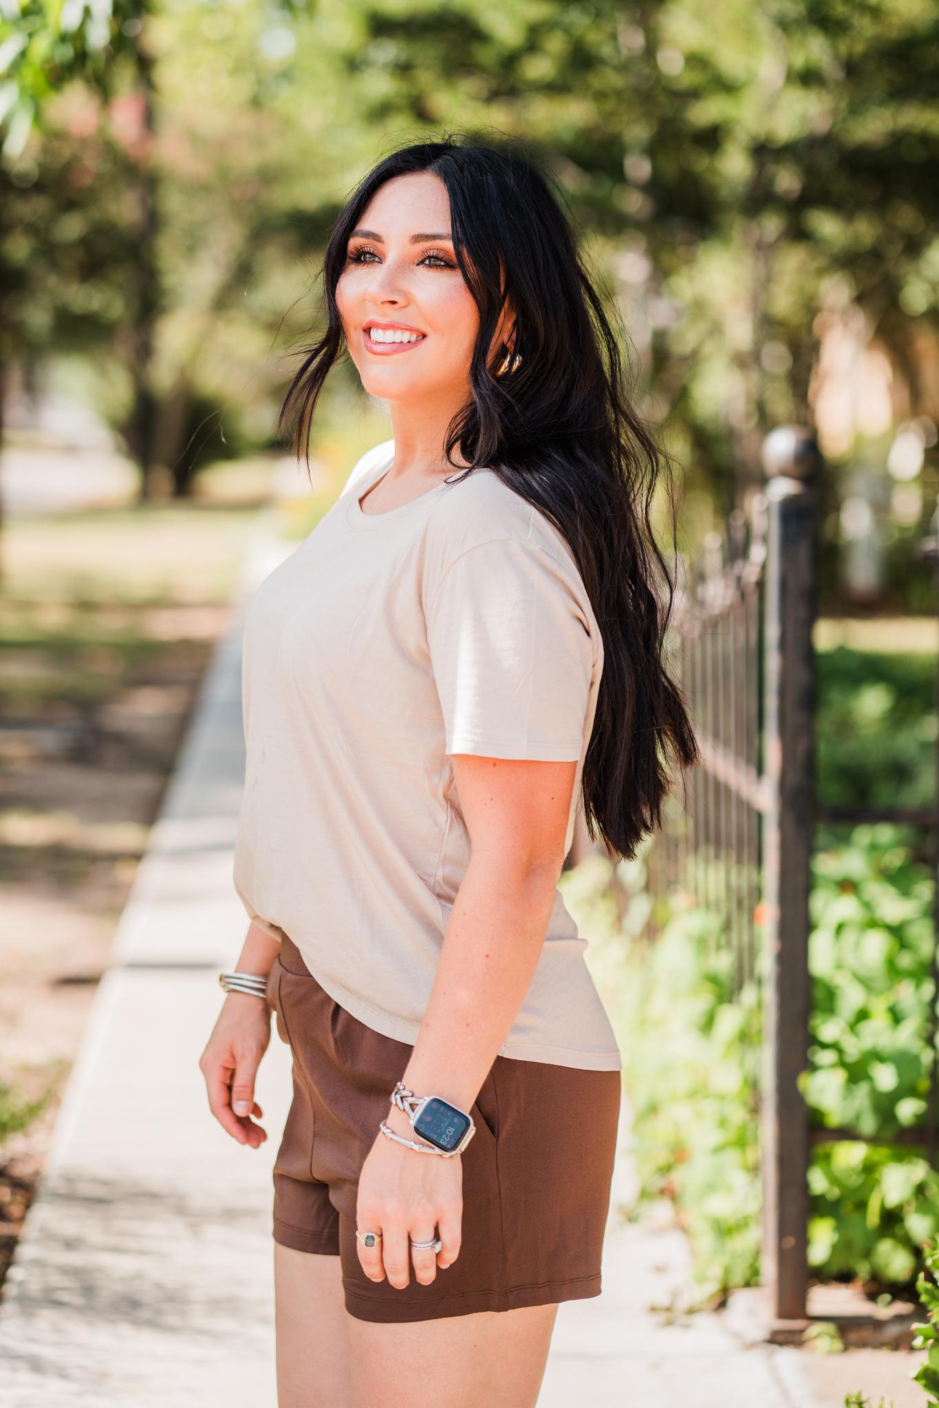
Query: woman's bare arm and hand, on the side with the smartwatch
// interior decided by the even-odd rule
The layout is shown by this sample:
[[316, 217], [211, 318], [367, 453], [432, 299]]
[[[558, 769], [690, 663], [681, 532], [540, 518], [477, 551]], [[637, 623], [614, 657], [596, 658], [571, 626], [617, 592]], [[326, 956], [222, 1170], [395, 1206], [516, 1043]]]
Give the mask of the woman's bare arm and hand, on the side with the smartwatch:
[[[418, 1095], [467, 1110], [496, 1060], [532, 980], [563, 865], [576, 763], [453, 755], [472, 859], [456, 895], [431, 997], [401, 1074]], [[412, 1133], [403, 1111], [389, 1128]], [[404, 1288], [410, 1262], [421, 1284], [450, 1266], [462, 1242], [462, 1159], [414, 1153], [382, 1133], [362, 1166], [358, 1226], [382, 1240], [358, 1243], [372, 1280]], [[442, 1250], [411, 1250], [439, 1228]]]

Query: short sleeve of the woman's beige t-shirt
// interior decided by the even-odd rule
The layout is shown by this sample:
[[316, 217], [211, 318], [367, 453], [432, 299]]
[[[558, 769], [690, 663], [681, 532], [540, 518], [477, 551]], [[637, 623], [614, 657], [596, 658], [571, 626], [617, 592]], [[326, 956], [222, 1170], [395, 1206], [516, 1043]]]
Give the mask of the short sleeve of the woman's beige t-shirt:
[[479, 543], [427, 611], [448, 753], [580, 758], [594, 642], [573, 569], [524, 538]]

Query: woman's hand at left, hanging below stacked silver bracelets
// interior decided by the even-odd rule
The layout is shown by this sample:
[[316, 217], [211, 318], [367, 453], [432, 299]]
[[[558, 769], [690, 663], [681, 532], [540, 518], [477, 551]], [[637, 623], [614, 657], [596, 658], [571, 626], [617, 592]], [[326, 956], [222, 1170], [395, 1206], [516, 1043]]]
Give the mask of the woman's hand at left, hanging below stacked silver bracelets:
[[270, 1007], [251, 993], [228, 993], [198, 1069], [206, 1077], [208, 1108], [238, 1143], [258, 1149], [267, 1132], [251, 1118], [263, 1110], [255, 1100], [255, 1077], [270, 1042]]

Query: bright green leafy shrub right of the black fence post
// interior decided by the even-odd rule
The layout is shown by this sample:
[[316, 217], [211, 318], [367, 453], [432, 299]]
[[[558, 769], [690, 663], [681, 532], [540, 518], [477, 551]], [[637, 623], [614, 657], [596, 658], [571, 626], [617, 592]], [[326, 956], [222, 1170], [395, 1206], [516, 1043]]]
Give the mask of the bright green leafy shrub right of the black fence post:
[[[904, 843], [907, 842], [907, 843]], [[926, 1112], [935, 929], [932, 872], [893, 825], [856, 826], [814, 857], [809, 1066], [817, 1124], [877, 1143], [822, 1143], [809, 1169], [809, 1266], [819, 1277], [912, 1284], [939, 1235], [939, 1173], [893, 1142]]]

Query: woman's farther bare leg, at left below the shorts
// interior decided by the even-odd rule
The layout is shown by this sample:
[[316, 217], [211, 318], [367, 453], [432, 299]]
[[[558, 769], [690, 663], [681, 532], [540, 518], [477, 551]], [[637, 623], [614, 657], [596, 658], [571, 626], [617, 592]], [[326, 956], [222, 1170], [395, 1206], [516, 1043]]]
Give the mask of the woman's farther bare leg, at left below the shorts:
[[339, 1257], [273, 1246], [277, 1408], [351, 1408]]

